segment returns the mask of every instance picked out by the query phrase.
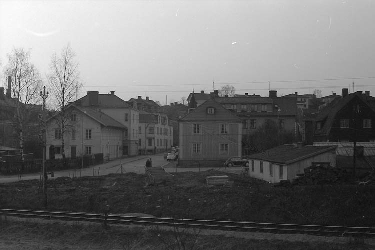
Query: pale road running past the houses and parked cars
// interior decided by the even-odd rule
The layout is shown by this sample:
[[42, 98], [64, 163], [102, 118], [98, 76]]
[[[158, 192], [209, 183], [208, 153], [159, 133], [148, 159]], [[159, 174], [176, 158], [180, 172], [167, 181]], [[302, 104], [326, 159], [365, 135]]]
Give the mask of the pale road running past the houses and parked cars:
[[[241, 167], [233, 167], [233, 168], [223, 168], [223, 167], [216, 167], [216, 168], [177, 168], [177, 162], [171, 161], [167, 162], [163, 154], [151, 154], [151, 155], [139, 155], [136, 157], [129, 157], [129, 158], [121, 158], [115, 159], [100, 165], [90, 166], [87, 168], [82, 169], [68, 169], [68, 170], [61, 170], [54, 172], [54, 177], [48, 175], [48, 179], [55, 179], [58, 177], [82, 177], [82, 176], [98, 176], [98, 175], [107, 175], [110, 173], [128, 173], [134, 172], [138, 174], [145, 173], [145, 164], [147, 159], [152, 159], [152, 166], [163, 166], [165, 167], [165, 171], [173, 173], [173, 172], [185, 172], [185, 171], [206, 171], [208, 169], [215, 169], [218, 171], [226, 171], [232, 173], [239, 173], [241, 172]], [[16, 182], [19, 180], [30, 180], [30, 179], [40, 179], [40, 173], [28, 173], [23, 174], [22, 176], [19, 175], [1, 175], [0, 174], [0, 183], [9, 183], [9, 182]]]

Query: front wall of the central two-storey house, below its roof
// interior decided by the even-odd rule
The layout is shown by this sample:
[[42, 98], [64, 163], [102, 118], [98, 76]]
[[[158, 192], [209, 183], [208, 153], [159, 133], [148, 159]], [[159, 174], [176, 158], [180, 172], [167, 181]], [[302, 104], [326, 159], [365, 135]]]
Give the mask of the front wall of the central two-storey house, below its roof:
[[[193, 133], [194, 123], [179, 123], [179, 165], [189, 164], [189, 161], [220, 165], [228, 157], [241, 156], [241, 123], [196, 122], [201, 126], [199, 134]], [[220, 124], [228, 125], [227, 134], [220, 133]], [[193, 143], [201, 144], [200, 153], [193, 152]], [[220, 143], [228, 144], [228, 152], [220, 153]]]

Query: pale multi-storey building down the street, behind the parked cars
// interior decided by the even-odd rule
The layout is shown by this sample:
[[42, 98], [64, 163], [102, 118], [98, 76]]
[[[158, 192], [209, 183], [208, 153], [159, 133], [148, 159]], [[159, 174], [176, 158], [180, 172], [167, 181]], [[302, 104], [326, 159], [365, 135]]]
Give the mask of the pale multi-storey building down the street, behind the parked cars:
[[139, 154], [167, 151], [173, 145], [173, 127], [164, 113], [139, 111]]

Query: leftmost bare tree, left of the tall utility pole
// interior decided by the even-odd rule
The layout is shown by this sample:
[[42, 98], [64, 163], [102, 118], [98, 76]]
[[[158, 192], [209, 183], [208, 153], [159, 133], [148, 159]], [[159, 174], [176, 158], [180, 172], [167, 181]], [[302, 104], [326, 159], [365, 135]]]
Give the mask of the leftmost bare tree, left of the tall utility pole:
[[8, 63], [4, 68], [4, 74], [9, 77], [10, 81], [8, 91], [11, 90], [11, 95], [9, 97], [13, 97], [7, 101], [10, 107], [15, 108], [15, 112], [9, 113], [8, 119], [11, 120], [14, 129], [19, 132], [19, 147], [23, 160], [24, 132], [26, 126], [34, 119], [31, 113], [38, 111], [35, 104], [40, 102], [38, 97], [42, 81], [38, 70], [29, 61], [30, 51], [14, 48], [11, 53], [7, 54], [7, 57]]

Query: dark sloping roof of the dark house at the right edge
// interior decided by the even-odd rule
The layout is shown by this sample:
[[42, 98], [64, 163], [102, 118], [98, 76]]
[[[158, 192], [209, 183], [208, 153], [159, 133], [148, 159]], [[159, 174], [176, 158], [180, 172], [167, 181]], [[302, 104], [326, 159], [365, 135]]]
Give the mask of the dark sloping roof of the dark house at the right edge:
[[371, 107], [371, 105], [369, 105], [369, 103], [366, 101], [365, 95], [358, 92], [348, 94], [344, 98], [336, 98], [329, 105], [321, 109], [317, 114], [316, 121], [319, 122], [325, 120], [325, 122], [321, 129], [315, 130], [315, 135], [327, 136], [330, 132], [337, 112], [344, 108], [354, 98], [359, 98], [373, 110], [373, 107]]

